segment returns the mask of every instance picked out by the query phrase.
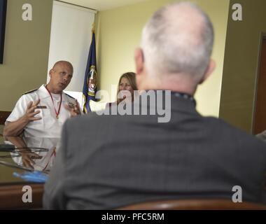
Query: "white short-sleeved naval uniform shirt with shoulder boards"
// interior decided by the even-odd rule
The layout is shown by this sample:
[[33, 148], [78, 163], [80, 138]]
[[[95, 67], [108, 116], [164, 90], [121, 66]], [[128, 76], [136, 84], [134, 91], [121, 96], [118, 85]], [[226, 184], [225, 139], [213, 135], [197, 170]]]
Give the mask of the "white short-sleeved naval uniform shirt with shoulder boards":
[[8, 122], [14, 122], [25, 115], [29, 102], [36, 102], [41, 99], [38, 106], [46, 106], [47, 109], [36, 109], [40, 111], [36, 117], [41, 117], [41, 120], [34, 120], [28, 123], [25, 127], [25, 137], [52, 137], [59, 138], [61, 135], [62, 125], [66, 119], [70, 118], [71, 114], [64, 108], [65, 104], [76, 104], [76, 100], [62, 92], [62, 105], [59, 111], [59, 119], [56, 118], [56, 111], [59, 109], [60, 96], [58, 99], [53, 98], [55, 106], [52, 104], [52, 99], [45, 85], [41, 85], [38, 90], [22, 95], [18, 100], [15, 108], [10, 116], [6, 119]]

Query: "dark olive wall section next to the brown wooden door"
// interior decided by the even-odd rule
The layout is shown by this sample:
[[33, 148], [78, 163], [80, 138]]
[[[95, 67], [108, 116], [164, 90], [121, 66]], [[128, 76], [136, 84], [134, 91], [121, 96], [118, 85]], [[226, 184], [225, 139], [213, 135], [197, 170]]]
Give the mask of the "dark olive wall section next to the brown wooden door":
[[[265, 0], [231, 0], [241, 3], [243, 21], [228, 21], [220, 116], [252, 132], [260, 35], [266, 33]], [[232, 10], [230, 10], [232, 13]]]

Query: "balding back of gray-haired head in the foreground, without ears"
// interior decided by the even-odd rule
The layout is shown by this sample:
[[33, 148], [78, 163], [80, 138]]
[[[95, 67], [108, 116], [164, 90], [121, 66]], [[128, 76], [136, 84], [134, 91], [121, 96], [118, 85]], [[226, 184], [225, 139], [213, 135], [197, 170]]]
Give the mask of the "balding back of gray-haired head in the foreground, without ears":
[[209, 17], [193, 3], [158, 10], [144, 27], [141, 47], [148, 73], [188, 74], [200, 81], [214, 45]]

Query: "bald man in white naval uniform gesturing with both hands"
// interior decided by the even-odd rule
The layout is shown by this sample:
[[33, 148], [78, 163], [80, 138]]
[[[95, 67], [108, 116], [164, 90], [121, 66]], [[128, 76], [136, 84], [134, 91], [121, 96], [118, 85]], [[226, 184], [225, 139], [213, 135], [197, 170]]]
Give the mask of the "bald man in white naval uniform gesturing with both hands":
[[3, 136], [60, 137], [66, 119], [80, 114], [80, 106], [63, 90], [73, 76], [69, 62], [55, 63], [49, 72], [50, 81], [37, 90], [23, 94], [6, 119]]

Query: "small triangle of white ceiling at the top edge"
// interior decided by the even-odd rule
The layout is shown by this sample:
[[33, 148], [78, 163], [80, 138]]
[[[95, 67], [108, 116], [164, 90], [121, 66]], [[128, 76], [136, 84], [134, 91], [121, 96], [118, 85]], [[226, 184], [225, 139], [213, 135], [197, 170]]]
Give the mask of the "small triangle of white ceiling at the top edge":
[[117, 8], [120, 6], [127, 6], [130, 4], [138, 3], [140, 1], [147, 0], [61, 0], [68, 3], [73, 3], [78, 6], [85, 6], [87, 8], [93, 8], [96, 10], [107, 10], [111, 8]]

